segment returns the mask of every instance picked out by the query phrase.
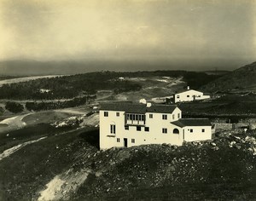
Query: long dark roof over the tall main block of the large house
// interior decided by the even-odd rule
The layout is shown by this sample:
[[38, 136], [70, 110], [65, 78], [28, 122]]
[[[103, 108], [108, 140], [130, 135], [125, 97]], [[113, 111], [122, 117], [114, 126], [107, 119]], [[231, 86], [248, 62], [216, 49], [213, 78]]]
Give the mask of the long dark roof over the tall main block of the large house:
[[128, 113], [146, 113], [146, 112], [160, 112], [172, 113], [177, 108], [176, 105], [155, 105], [147, 107], [143, 103], [127, 103], [127, 102], [111, 102], [102, 103], [100, 110], [105, 111], [124, 111]]

